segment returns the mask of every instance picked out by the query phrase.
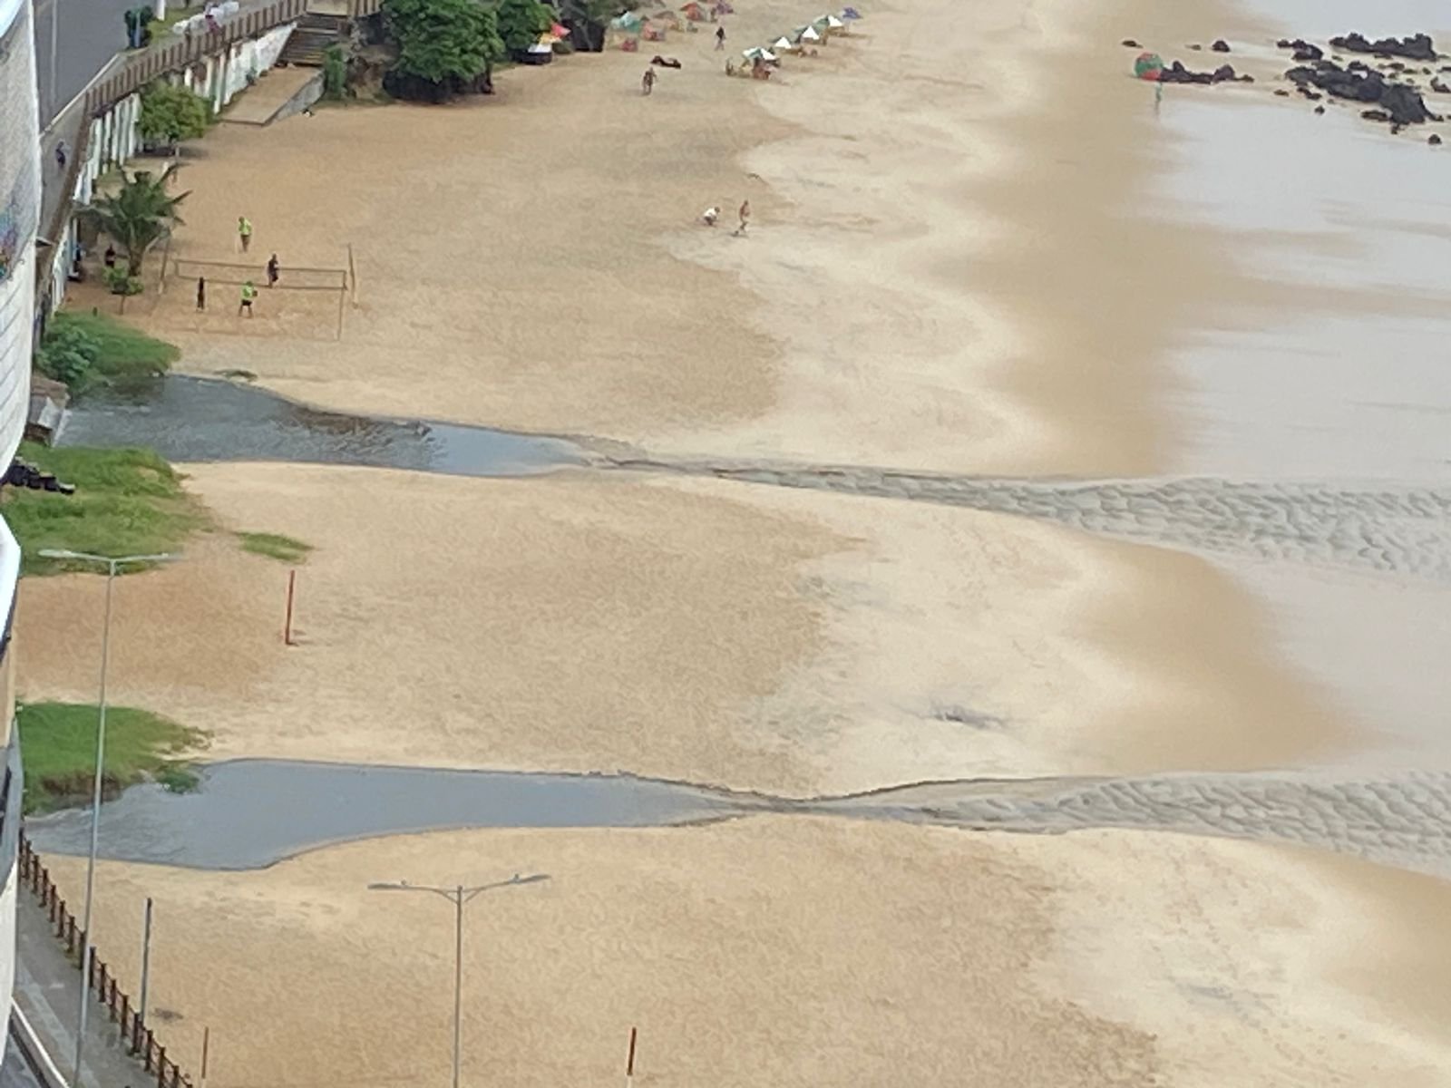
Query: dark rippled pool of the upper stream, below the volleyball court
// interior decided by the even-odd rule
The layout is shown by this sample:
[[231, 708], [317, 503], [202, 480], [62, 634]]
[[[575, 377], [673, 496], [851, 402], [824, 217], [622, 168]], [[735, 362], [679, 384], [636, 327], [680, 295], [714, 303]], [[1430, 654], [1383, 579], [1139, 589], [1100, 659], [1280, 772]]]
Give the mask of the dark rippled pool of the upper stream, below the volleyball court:
[[57, 445], [145, 445], [168, 461], [299, 461], [450, 476], [534, 476], [586, 466], [563, 438], [324, 412], [223, 379], [168, 374], [77, 399]]

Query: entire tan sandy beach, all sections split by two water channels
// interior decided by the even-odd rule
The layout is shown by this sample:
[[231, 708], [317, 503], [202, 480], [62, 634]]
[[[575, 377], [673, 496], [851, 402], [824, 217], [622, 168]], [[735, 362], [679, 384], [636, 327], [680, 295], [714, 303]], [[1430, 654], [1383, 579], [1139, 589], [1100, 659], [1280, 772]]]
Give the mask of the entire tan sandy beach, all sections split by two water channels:
[[[733, 49], [814, 15], [740, 7]], [[1316, 19], [1303, 32], [1349, 29]], [[1349, 350], [1328, 332], [1296, 351], [1274, 322], [1412, 322], [1441, 302], [1423, 283], [1397, 296], [1386, 264], [1297, 279], [1304, 254], [1358, 242], [1216, 212], [1248, 184], [1204, 180], [1236, 151], [1226, 118], [1315, 120], [1270, 93], [1283, 32], [1302, 30], [1228, 6], [898, 0], [766, 86], [727, 80], [708, 33], [673, 35], [662, 52], [685, 68], [649, 99], [643, 59], [615, 51], [503, 73], [493, 99], [445, 109], [222, 126], [187, 164], [173, 252], [235, 258], [245, 213], [284, 270], [338, 265], [351, 244], [358, 305], [341, 341], [316, 299], [284, 293], [251, 323], [229, 306], [197, 316], [176, 292], [138, 321], [192, 373], [247, 371], [338, 411], [660, 458], [1203, 476], [1191, 499], [1229, 509], [1222, 482], [1355, 476], [1357, 435], [1400, 432], [1386, 389], [1421, 395], [1410, 348], [1390, 386], [1323, 382], [1316, 353]], [[1170, 88], [1156, 110], [1126, 75], [1120, 39], [1203, 67], [1213, 54], [1187, 44], [1219, 36], [1257, 84]], [[1349, 139], [1354, 123], [1322, 132]], [[1354, 141], [1365, 161], [1434, 154]], [[1302, 181], [1318, 207], [1333, 191]], [[730, 226], [746, 197], [747, 238], [694, 222], [714, 203]], [[1275, 247], [1288, 264], [1270, 263]], [[1246, 344], [1280, 368], [1225, 361]], [[1416, 434], [1362, 474], [1435, 482], [1435, 428]], [[1434, 654], [1394, 648], [1422, 637], [1428, 609], [1405, 602], [1434, 577], [1296, 566], [1306, 548], [1258, 495], [1239, 499], [1258, 518], [1244, 534], [1283, 547], [1225, 559], [1168, 532], [1156, 547], [1069, 518], [686, 476], [186, 470], [218, 529], [122, 583], [113, 698], [212, 731], [219, 757], [625, 770], [802, 796], [1444, 769], [1425, 759]], [[1209, 544], [1233, 534], [1201, 528]], [[237, 531], [315, 547], [297, 647], [280, 638], [287, 569], [241, 553]], [[1376, 551], [1338, 522], [1326, 534]], [[20, 601], [23, 696], [89, 698], [99, 582], [28, 580]], [[1364, 634], [1336, 635], [1348, 618]], [[1371, 643], [1383, 667], [1364, 680]], [[1419, 709], [1377, 730], [1367, 708], [1387, 692]], [[55, 869], [74, 897], [77, 863]], [[440, 1082], [447, 910], [363, 888], [524, 869], [554, 879], [474, 907], [479, 1079], [617, 1075], [631, 1024], [638, 1079], [662, 1085], [1431, 1087], [1451, 1059], [1442, 882], [1152, 831], [770, 817], [385, 838], [255, 873], [106, 863], [99, 940], [135, 978], [135, 918], [157, 898], [155, 1001], [176, 1046], [212, 1027], [218, 1088]]]

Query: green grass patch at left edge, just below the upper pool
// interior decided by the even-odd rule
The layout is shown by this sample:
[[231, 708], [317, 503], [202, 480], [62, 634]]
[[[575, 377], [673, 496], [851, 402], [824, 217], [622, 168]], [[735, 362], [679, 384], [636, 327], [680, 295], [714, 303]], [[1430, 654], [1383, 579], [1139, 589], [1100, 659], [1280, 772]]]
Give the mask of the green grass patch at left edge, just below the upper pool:
[[96, 570], [94, 564], [41, 559], [35, 554], [41, 548], [100, 556], [176, 551], [210, 527], [206, 508], [181, 489], [181, 474], [154, 450], [52, 450], [23, 442], [19, 456], [75, 485], [71, 496], [4, 490], [0, 512], [20, 541], [22, 574]]

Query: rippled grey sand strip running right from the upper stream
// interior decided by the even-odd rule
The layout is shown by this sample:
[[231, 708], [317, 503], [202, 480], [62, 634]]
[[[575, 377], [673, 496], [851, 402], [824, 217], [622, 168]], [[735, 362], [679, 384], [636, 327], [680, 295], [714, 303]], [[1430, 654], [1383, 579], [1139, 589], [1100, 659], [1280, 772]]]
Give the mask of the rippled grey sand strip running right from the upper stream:
[[1220, 479], [985, 480], [868, 467], [617, 461], [615, 467], [916, 499], [1196, 551], [1451, 583], [1451, 492]]

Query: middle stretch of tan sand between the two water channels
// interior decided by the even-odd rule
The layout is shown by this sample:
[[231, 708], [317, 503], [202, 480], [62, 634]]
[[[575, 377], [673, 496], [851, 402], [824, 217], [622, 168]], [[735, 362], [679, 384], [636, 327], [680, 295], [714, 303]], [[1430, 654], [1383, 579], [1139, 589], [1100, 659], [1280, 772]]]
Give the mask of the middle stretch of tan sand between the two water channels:
[[[223, 531], [316, 548], [293, 648], [287, 569], [225, 532], [120, 585], [112, 698], [216, 756], [821, 794], [1273, 766], [1336, 738], [1185, 556], [724, 482], [189, 471]], [[99, 592], [22, 585], [23, 698], [90, 698]]]

